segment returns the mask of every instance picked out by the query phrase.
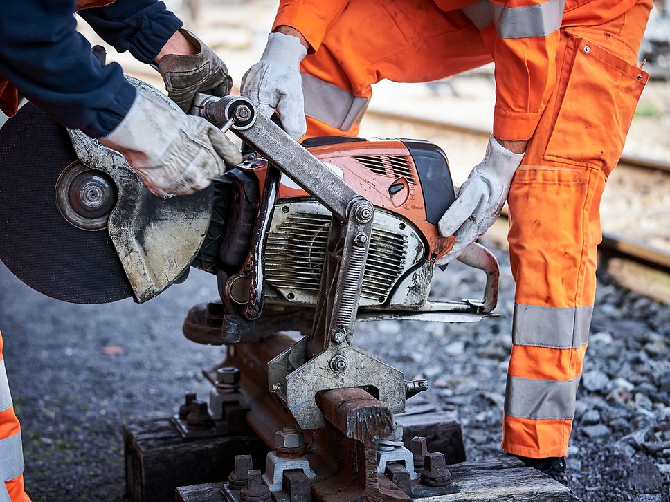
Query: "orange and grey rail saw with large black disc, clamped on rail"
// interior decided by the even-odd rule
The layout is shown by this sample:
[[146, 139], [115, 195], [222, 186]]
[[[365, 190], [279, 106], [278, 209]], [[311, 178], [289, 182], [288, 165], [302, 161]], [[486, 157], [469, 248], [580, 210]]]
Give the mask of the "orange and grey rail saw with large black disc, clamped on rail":
[[[221, 302], [202, 319], [206, 328], [185, 331], [199, 342], [237, 348], [229, 349], [229, 363], [244, 366], [243, 355], [251, 353], [262, 361], [255, 369], [261, 388], [246, 389], [244, 402], [274, 416], [276, 427], [247, 420], [271, 447], [282, 425], [306, 431], [307, 464], [300, 465], [307, 465], [302, 471], [315, 498], [354, 500], [382, 490], [379, 478], [390, 478], [379, 467], [380, 451], [386, 461], [395, 451], [410, 476], [400, 491], [384, 481], [395, 495], [381, 499], [420, 492], [430, 483], [403, 460], [393, 413], [403, 412], [427, 382], [406, 382], [401, 371], [357, 348], [354, 326], [381, 319], [476, 322], [496, 306], [498, 263], [478, 244], [460, 261], [485, 272], [482, 299], [429, 299], [435, 262], [454, 241], [437, 229], [455, 200], [444, 152], [407, 139], [327, 136], [299, 144], [239, 96], [199, 95], [192, 113], [239, 136], [244, 163], [197, 194], [159, 198], [116, 151], [23, 106], [0, 129], [0, 259], [35, 290], [87, 304], [131, 296], [143, 303], [183, 281], [191, 266], [210, 272]], [[272, 342], [291, 322], [302, 322], [304, 336]], [[352, 389], [383, 411], [368, 417], [365, 434], [334, 425], [338, 411], [328, 404], [360, 396], [323, 396]], [[329, 498], [318, 483], [332, 478], [332, 469], [320, 470], [315, 461], [309, 467], [310, 455], [326, 447], [318, 431], [328, 427], [362, 448], [361, 461], [350, 466], [350, 478], [359, 480], [351, 496], [340, 490]], [[375, 447], [381, 440], [386, 449]], [[280, 481], [302, 458], [293, 452], [287, 463], [284, 451], [282, 464], [281, 455], [272, 464]], [[264, 479], [280, 500], [276, 479], [275, 485]], [[239, 499], [239, 491], [229, 492]]]

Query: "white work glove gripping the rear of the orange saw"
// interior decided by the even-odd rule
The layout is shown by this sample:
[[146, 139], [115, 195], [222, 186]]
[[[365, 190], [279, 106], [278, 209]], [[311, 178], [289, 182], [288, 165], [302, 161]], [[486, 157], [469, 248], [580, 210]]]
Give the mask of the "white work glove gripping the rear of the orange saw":
[[458, 197], [437, 223], [443, 237], [456, 236], [453, 248], [437, 260], [437, 265], [453, 261], [494, 224], [522, 159], [523, 154], [509, 151], [493, 136], [489, 138], [484, 160], [472, 170]]

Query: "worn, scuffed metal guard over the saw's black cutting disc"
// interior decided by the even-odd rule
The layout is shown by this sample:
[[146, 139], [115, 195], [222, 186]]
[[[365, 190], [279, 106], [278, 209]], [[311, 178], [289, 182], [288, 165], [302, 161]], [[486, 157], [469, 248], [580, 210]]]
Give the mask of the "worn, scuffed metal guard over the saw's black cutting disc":
[[[155, 99], [176, 106], [148, 84], [128, 77]], [[190, 196], [151, 194], [118, 152], [81, 131], [68, 131], [78, 158], [116, 183], [118, 202], [107, 231], [138, 303], [158, 295], [188, 269], [203, 243], [212, 216], [212, 185]]]

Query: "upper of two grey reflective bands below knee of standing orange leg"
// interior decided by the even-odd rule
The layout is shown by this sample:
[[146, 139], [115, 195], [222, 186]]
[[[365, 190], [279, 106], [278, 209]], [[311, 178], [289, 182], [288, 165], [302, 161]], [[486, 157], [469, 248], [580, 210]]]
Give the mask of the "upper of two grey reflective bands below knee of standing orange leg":
[[588, 342], [593, 307], [514, 306], [511, 340], [515, 345], [579, 348]]

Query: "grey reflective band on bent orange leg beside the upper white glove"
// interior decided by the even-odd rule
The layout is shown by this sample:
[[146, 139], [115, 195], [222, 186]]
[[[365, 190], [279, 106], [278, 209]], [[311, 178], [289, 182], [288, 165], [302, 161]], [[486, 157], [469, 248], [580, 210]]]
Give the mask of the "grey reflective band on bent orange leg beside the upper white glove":
[[346, 89], [314, 75], [301, 73], [307, 117], [315, 118], [341, 131], [349, 131], [361, 122], [370, 102], [367, 97], [354, 96]]

